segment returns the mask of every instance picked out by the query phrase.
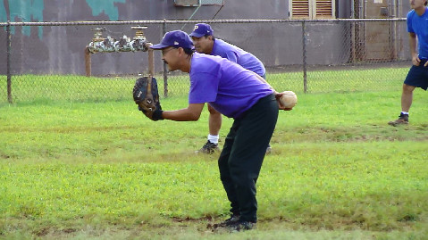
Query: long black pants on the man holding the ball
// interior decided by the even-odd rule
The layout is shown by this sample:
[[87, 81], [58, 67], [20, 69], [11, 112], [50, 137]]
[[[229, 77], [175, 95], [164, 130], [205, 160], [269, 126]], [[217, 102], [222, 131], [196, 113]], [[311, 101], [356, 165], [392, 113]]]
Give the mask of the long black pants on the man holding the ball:
[[231, 202], [231, 213], [256, 222], [256, 181], [267, 145], [278, 120], [274, 95], [261, 98], [233, 122], [218, 160], [220, 178]]

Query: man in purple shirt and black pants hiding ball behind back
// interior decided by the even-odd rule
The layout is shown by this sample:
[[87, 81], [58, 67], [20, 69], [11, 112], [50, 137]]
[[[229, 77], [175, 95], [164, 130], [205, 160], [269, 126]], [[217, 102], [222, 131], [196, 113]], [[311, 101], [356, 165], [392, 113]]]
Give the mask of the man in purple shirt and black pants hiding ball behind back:
[[231, 202], [231, 218], [215, 227], [247, 230], [257, 221], [256, 181], [266, 147], [273, 135], [279, 110], [277, 93], [250, 70], [220, 56], [196, 53], [189, 35], [167, 32], [161, 43], [150, 46], [162, 51], [169, 70], [189, 73], [189, 105], [175, 111], [157, 109], [153, 120], [198, 120], [205, 103], [233, 118], [218, 159], [220, 178]]

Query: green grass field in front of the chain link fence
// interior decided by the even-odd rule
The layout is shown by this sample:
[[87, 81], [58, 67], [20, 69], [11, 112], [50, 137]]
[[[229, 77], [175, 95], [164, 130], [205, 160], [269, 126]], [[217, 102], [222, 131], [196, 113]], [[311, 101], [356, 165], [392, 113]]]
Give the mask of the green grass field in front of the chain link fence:
[[229, 210], [217, 156], [194, 153], [206, 110], [153, 122], [131, 100], [2, 103], [0, 238], [427, 239], [428, 100], [415, 90], [411, 124], [390, 127], [397, 88], [298, 95], [257, 181], [257, 229], [233, 234], [206, 229]]

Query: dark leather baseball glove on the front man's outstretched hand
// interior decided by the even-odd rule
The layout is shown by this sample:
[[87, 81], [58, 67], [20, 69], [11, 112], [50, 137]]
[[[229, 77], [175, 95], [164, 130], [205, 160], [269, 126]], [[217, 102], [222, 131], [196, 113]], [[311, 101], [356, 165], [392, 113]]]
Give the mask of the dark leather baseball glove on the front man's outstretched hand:
[[132, 95], [134, 96], [134, 102], [138, 104], [138, 110], [143, 112], [147, 118], [164, 120], [155, 78], [149, 76], [137, 79]]

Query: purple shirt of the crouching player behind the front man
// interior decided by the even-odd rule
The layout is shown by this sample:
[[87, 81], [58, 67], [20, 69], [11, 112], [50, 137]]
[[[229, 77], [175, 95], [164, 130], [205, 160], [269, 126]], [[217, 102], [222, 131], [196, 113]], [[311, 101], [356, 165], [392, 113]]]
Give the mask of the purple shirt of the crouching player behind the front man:
[[211, 55], [227, 58], [231, 62], [236, 62], [246, 70], [252, 70], [259, 76], [264, 76], [266, 70], [263, 63], [255, 55], [245, 52], [238, 46], [224, 42], [222, 39], [214, 39], [214, 46]]

